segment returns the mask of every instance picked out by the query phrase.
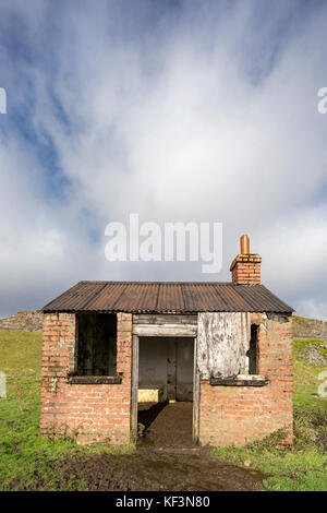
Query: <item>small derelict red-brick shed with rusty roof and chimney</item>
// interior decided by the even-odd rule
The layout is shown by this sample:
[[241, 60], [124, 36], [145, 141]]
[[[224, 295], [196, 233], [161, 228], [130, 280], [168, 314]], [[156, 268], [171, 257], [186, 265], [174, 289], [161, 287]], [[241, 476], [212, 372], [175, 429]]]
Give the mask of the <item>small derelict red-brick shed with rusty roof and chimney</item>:
[[245, 243], [231, 283], [80, 282], [49, 302], [41, 433], [129, 444], [140, 402], [192, 402], [195, 442], [291, 442], [293, 310], [261, 262]]

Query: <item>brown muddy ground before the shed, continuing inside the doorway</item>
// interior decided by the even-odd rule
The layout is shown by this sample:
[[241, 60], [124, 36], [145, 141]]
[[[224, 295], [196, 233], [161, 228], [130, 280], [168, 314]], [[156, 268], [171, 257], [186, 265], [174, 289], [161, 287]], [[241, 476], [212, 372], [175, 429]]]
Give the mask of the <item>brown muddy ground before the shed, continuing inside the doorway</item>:
[[[94, 491], [237, 491], [262, 487], [263, 475], [220, 463], [192, 441], [192, 403], [140, 404], [144, 426], [136, 451], [123, 454], [81, 450], [73, 457], [51, 463], [60, 477], [55, 488], [66, 489], [71, 479], [83, 479]], [[44, 488], [35, 476], [33, 489]], [[12, 482], [11, 488], [21, 488]], [[28, 489], [28, 488], [27, 488]], [[31, 489], [31, 488], [29, 488]]]

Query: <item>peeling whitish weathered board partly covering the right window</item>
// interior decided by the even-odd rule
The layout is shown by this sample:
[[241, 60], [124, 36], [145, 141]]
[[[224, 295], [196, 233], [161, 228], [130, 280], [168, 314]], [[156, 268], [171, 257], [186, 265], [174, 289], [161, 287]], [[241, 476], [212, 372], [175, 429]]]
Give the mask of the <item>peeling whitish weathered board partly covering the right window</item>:
[[230, 378], [244, 372], [250, 338], [251, 317], [247, 312], [198, 313], [201, 378]]

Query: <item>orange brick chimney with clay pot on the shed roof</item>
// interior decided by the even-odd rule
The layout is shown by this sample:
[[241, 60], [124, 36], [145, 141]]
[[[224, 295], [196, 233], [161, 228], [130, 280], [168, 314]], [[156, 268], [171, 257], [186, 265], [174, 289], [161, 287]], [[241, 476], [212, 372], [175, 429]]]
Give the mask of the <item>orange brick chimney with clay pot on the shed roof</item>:
[[261, 283], [262, 258], [257, 253], [250, 253], [250, 239], [247, 235], [241, 237], [241, 253], [234, 258], [230, 266], [232, 282], [238, 285], [257, 285]]

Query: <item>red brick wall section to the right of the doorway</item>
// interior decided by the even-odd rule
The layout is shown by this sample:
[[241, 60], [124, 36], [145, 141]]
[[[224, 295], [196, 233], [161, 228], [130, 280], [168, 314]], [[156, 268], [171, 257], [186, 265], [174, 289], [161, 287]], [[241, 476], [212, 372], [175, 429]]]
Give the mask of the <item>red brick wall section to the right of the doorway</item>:
[[258, 327], [259, 373], [265, 386], [211, 386], [201, 382], [199, 442], [245, 444], [286, 428], [292, 441], [292, 319], [253, 314]]

